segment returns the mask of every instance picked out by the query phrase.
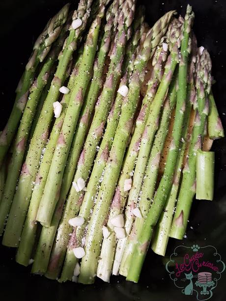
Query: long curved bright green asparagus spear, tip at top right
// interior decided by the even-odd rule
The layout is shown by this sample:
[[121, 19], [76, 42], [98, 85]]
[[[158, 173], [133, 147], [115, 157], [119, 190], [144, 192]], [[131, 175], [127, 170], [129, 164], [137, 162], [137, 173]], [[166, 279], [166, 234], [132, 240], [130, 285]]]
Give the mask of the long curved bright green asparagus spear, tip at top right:
[[193, 19], [194, 13], [192, 12], [192, 7], [188, 5], [183, 28], [183, 39], [181, 42], [181, 57], [178, 71], [178, 92], [171, 145], [169, 148], [169, 154], [167, 157], [163, 177], [153, 198], [153, 202], [147, 214], [147, 218], [145, 219], [141, 230], [139, 231], [139, 233], [137, 233], [137, 246], [135, 247], [133, 253], [130, 254], [130, 263], [133, 264], [130, 264], [127, 280], [134, 282], [137, 282], [140, 277], [142, 263], [144, 261], [147, 247], [153, 233], [153, 227], [159, 219], [172, 184], [174, 166], [176, 164], [178, 156], [179, 144], [183, 128], [184, 112], [186, 109], [187, 65], [189, 53], [191, 51], [190, 32]]

